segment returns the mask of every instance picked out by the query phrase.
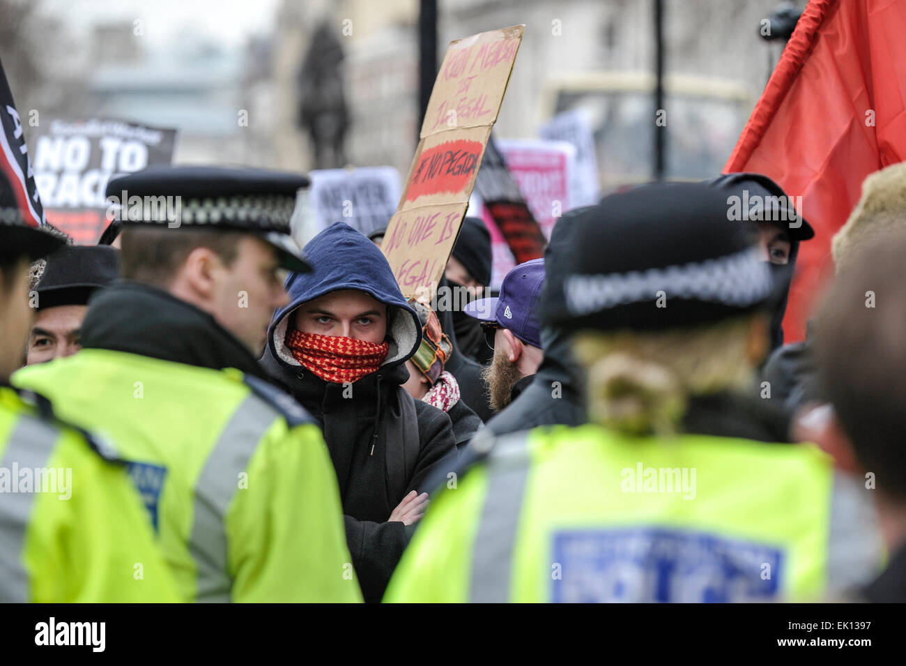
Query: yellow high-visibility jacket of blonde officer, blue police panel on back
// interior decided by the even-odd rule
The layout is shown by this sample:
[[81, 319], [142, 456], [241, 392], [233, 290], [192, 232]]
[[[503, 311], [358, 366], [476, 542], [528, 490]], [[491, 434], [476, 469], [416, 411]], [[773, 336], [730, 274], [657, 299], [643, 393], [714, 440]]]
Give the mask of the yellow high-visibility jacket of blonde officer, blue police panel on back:
[[384, 600], [814, 599], [877, 564], [843, 552], [866, 527], [845, 484], [811, 445], [508, 435], [432, 500]]

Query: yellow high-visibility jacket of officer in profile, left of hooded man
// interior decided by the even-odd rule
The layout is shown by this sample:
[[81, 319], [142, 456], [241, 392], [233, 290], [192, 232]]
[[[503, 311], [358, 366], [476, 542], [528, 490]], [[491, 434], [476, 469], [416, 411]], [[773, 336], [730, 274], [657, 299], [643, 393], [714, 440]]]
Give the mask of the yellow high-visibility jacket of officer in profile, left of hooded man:
[[321, 430], [282, 391], [100, 349], [13, 381], [130, 460], [186, 601], [361, 601]]

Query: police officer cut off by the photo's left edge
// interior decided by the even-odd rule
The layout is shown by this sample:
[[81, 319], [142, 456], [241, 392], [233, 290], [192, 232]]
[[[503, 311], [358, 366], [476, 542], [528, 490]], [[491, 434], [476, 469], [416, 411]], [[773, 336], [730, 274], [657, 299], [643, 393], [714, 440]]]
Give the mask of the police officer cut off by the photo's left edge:
[[62, 244], [25, 225], [0, 169], [0, 603], [178, 601], [125, 468], [8, 385], [33, 314], [29, 262]]

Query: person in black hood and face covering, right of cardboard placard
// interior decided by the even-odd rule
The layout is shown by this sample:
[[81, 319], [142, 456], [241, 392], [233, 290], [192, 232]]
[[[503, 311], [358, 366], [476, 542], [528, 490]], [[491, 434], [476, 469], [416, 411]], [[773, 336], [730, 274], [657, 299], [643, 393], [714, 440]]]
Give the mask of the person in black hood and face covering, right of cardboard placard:
[[[459, 294], [452, 299], [453, 332], [459, 351], [479, 365], [491, 360], [490, 350], [484, 342], [481, 327], [461, 307], [484, 295], [491, 283], [491, 235], [485, 223], [477, 217], [464, 217], [453, 252], [447, 261], [445, 276], [448, 285]], [[464, 296], [467, 294], [467, 298]]]

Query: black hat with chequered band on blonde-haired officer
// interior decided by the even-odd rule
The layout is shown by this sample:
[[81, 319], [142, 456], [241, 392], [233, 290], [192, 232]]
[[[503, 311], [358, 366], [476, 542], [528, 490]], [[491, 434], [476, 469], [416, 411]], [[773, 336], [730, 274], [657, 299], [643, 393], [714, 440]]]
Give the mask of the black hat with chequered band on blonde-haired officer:
[[701, 183], [614, 194], [571, 220], [565, 270], [549, 272], [543, 323], [567, 330], [658, 330], [763, 307], [771, 274], [726, 197]]

